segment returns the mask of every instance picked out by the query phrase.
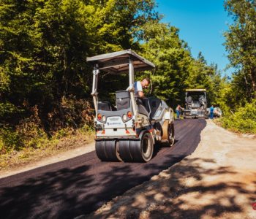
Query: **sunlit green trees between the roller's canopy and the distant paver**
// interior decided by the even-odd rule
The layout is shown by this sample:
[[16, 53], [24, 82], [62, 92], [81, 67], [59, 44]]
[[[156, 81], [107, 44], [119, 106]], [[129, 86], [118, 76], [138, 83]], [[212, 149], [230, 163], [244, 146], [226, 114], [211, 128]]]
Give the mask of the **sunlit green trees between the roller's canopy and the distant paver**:
[[[203, 55], [192, 58], [187, 43], [178, 37], [178, 29], [164, 23], [148, 23], [144, 27], [143, 56], [154, 62], [154, 72], [140, 74], [151, 77], [150, 95], [158, 96], [173, 107], [184, 104], [186, 88], [206, 88], [208, 102], [219, 104], [223, 80], [217, 67], [208, 66]], [[139, 51], [138, 51], [139, 52]]]

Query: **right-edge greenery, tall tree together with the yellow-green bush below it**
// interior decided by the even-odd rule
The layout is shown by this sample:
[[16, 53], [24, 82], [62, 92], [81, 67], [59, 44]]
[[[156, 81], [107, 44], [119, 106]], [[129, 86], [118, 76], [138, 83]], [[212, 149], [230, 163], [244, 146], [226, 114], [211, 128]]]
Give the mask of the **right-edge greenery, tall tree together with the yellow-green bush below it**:
[[219, 97], [226, 115], [222, 125], [236, 131], [255, 133], [256, 2], [225, 0], [225, 9], [233, 18], [224, 34], [225, 46], [230, 66], [236, 72], [229, 82], [225, 82]]

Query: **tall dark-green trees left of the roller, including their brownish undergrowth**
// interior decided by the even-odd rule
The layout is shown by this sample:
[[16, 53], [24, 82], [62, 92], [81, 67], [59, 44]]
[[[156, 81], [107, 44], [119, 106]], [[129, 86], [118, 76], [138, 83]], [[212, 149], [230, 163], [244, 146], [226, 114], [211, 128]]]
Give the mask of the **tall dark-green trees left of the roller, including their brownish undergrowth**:
[[[159, 19], [154, 7], [153, 0], [2, 0], [1, 145], [35, 147], [59, 130], [91, 126], [86, 57], [139, 47], [141, 26]], [[19, 134], [25, 139], [16, 141]]]

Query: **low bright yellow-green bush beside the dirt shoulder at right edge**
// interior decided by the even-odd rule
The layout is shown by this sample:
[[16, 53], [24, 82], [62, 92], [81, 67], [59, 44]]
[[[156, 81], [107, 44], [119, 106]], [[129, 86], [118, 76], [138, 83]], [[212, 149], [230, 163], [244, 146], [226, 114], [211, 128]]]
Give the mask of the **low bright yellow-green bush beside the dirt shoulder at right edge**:
[[221, 123], [224, 128], [256, 134], [256, 100], [238, 108], [233, 115], [223, 117]]

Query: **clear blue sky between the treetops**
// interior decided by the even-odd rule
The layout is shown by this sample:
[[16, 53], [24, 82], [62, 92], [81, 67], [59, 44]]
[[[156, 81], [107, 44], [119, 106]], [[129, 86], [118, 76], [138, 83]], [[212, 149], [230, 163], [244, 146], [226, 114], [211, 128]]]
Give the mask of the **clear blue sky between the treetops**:
[[222, 75], [231, 75], [223, 32], [232, 19], [222, 0], [157, 0], [157, 11], [164, 15], [164, 23], [179, 28], [179, 36], [188, 43], [193, 57], [201, 51], [208, 64], [217, 64]]

